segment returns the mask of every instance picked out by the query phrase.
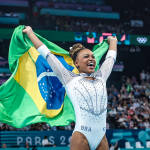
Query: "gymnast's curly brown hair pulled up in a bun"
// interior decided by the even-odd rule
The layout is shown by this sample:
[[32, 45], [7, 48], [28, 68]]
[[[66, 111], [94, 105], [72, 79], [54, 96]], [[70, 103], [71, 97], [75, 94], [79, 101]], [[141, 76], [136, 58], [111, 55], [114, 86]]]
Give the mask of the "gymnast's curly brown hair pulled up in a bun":
[[74, 44], [69, 51], [69, 55], [72, 58], [72, 60], [75, 61], [78, 56], [78, 53], [84, 49], [86, 48], [82, 44], [80, 43]]

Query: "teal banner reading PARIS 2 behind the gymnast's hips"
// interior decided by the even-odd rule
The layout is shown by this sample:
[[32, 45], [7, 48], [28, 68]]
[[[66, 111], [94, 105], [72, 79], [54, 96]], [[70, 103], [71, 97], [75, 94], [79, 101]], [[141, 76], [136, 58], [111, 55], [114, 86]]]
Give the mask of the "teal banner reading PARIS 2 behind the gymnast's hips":
[[[0, 132], [0, 145], [6, 143], [8, 147], [11, 145], [24, 147], [25, 142], [28, 142], [29, 145], [41, 146], [44, 136], [48, 136], [52, 145], [67, 146], [70, 144], [72, 131], [3, 131]], [[134, 148], [135, 143], [140, 142], [141, 146], [146, 148], [146, 141], [150, 141], [150, 129], [106, 130], [106, 137], [109, 144], [115, 145], [118, 142], [120, 148], [125, 148], [125, 142], [129, 142]]]

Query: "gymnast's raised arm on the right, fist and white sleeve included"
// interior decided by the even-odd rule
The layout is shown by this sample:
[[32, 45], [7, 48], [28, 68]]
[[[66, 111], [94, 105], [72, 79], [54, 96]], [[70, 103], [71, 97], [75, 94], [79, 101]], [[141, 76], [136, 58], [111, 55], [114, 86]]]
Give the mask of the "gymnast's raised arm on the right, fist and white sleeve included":
[[100, 72], [101, 72], [101, 77], [107, 81], [113, 65], [116, 61], [116, 56], [117, 56], [117, 39], [116, 37], [108, 37], [108, 44], [109, 44], [109, 50], [108, 53], [106, 55], [106, 59], [103, 62], [101, 68], [100, 68]]

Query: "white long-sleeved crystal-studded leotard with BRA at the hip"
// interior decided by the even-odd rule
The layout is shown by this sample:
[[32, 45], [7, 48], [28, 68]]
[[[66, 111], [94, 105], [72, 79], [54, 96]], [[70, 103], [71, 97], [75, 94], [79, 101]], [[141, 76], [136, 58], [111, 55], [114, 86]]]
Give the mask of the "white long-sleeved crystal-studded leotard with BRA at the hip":
[[116, 59], [116, 52], [109, 50], [101, 68], [88, 80], [68, 71], [61, 62], [42, 45], [39, 53], [47, 60], [52, 70], [64, 85], [76, 115], [74, 132], [85, 135], [91, 150], [95, 150], [106, 132], [107, 91], [106, 80]]

